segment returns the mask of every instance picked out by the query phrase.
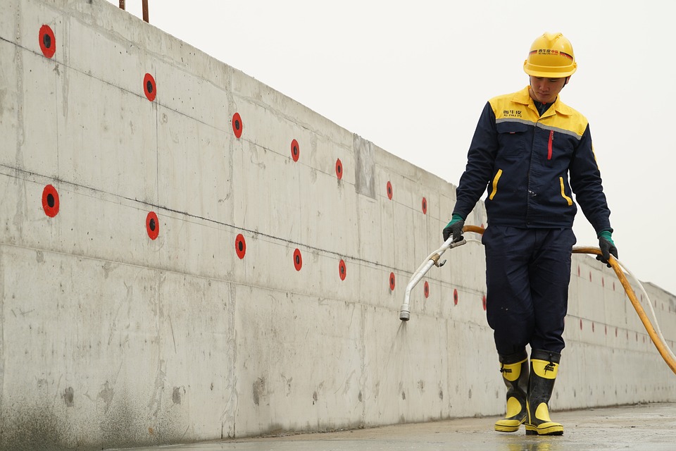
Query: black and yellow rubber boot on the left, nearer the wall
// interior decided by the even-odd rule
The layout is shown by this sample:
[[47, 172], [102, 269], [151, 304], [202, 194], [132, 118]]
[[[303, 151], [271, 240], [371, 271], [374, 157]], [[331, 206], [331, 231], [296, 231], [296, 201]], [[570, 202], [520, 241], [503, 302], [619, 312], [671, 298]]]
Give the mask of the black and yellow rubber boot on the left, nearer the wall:
[[507, 385], [505, 417], [496, 421], [498, 432], [516, 432], [526, 421], [526, 391], [528, 390], [528, 354], [526, 350], [507, 356], [499, 355], [502, 380]]

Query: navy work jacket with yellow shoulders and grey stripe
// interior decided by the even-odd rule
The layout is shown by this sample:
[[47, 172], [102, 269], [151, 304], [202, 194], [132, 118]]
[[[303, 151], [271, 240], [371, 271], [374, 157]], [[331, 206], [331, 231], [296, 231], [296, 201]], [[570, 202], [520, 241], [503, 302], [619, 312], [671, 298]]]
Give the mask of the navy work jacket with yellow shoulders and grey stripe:
[[528, 87], [486, 104], [453, 214], [467, 218], [486, 190], [489, 225], [572, 228], [575, 192], [596, 234], [613, 230], [587, 118], [559, 98], [540, 116]]

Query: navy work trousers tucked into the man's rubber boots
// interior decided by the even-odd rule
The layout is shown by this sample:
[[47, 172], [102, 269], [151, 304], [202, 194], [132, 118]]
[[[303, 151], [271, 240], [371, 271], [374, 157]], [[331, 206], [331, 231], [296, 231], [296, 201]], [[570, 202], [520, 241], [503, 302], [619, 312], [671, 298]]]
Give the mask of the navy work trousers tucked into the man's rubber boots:
[[575, 241], [566, 228], [486, 228], [486, 313], [499, 354], [521, 352], [527, 344], [563, 350]]

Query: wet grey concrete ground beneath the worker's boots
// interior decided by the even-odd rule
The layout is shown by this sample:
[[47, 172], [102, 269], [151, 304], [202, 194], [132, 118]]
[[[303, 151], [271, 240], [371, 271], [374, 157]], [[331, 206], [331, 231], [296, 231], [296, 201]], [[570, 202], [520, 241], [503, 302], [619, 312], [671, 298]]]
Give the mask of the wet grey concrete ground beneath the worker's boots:
[[286, 435], [134, 448], [135, 451], [672, 451], [676, 450], [676, 404], [636, 404], [626, 407], [553, 412], [565, 427], [563, 436], [537, 437], [492, 430], [496, 417], [401, 424], [358, 431]]

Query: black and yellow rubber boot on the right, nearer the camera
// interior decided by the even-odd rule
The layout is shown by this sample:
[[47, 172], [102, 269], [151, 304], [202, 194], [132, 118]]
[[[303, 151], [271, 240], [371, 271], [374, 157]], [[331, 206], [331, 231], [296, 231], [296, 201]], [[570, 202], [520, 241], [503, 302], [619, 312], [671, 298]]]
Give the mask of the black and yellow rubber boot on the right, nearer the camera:
[[563, 435], [563, 426], [549, 418], [549, 398], [554, 389], [559, 362], [561, 354], [558, 352], [533, 350], [530, 354], [527, 435]]

